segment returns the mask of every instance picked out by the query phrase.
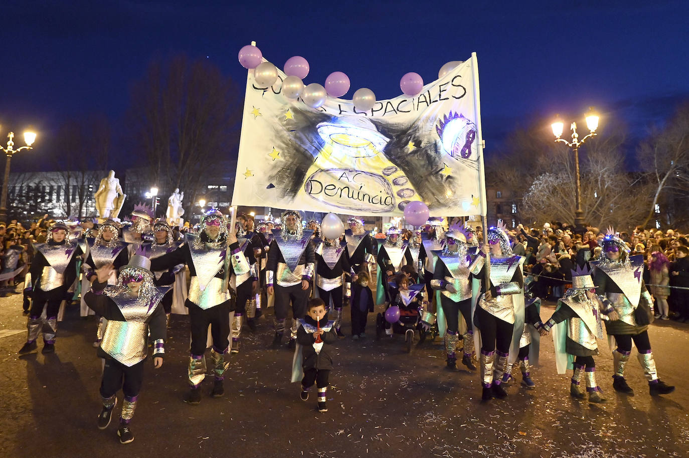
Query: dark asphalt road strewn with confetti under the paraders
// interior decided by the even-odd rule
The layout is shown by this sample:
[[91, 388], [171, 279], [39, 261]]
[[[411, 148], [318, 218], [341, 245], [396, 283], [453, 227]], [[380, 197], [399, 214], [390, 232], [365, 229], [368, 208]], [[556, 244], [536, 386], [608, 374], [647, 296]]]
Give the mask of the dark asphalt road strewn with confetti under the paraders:
[[[543, 307], [542, 318], [553, 311]], [[0, 456], [689, 457], [689, 324], [650, 329], [659, 375], [677, 386], [671, 395], [648, 395], [634, 355], [626, 375], [636, 395], [617, 395], [601, 341], [597, 374], [608, 404], [571, 399], [569, 375], [555, 373], [553, 342], [545, 337], [541, 366], [532, 371], [536, 389], [511, 386], [507, 399], [482, 404], [477, 371], [445, 371], [440, 340], [408, 355], [402, 336], [373, 338], [369, 315], [367, 339], [336, 344], [329, 411], [318, 413], [313, 393], [302, 402], [299, 384], [289, 382], [292, 353], [269, 349], [267, 315], [256, 333], [244, 332], [241, 353], [231, 357], [225, 397], [207, 396], [209, 377], [198, 406], [182, 402], [188, 318], [173, 315], [165, 364], [156, 370], [147, 363], [132, 421], [136, 440], [121, 445], [116, 421], [96, 428], [101, 364], [91, 346], [94, 319], [82, 320], [72, 306], [59, 324], [56, 353], [20, 358], [21, 295], [0, 298]]]

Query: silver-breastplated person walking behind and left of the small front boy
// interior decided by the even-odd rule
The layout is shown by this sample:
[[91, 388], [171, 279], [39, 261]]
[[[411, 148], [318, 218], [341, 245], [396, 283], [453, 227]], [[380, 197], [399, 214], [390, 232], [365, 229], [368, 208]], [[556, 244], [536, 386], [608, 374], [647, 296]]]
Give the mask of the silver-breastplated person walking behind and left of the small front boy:
[[309, 300], [309, 287], [313, 278], [316, 256], [313, 253], [310, 229], [302, 229], [301, 215], [285, 211], [281, 216], [285, 229], [273, 229], [273, 241], [268, 251], [265, 277], [267, 292], [275, 295], [275, 337], [273, 348], [278, 348], [285, 333], [287, 307], [292, 304], [292, 326], [289, 348], [296, 346], [299, 318], [304, 318]]

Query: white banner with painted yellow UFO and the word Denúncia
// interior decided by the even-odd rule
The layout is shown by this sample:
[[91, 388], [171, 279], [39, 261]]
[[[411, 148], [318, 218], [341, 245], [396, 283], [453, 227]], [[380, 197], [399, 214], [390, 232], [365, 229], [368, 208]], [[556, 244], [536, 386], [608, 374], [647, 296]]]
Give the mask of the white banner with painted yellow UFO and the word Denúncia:
[[402, 216], [422, 200], [432, 216], [480, 214], [471, 66], [368, 112], [332, 97], [313, 109], [280, 94], [280, 70], [267, 88], [249, 71], [232, 205]]

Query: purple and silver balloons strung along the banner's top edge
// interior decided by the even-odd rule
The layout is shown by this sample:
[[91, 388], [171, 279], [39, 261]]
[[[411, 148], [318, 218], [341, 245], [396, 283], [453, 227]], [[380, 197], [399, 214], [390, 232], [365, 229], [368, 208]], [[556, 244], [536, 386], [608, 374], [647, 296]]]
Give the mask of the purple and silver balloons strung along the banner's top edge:
[[[254, 70], [254, 81], [259, 87], [270, 87], [278, 81], [278, 69], [270, 62], [263, 62], [263, 54], [254, 45], [246, 45], [239, 50], [239, 63], [243, 67]], [[442, 78], [462, 61], [451, 61], [440, 67], [438, 78]], [[303, 79], [309, 74], [309, 63], [302, 56], [293, 56], [285, 62], [287, 78], [282, 81], [282, 94], [287, 98], [301, 97], [302, 101], [311, 108], [318, 108], [325, 103], [327, 96], [342, 97], [349, 92], [349, 76], [342, 72], [332, 72], [325, 79], [325, 87], [318, 83], [304, 85]], [[400, 89], [407, 96], [420, 94], [424, 87], [421, 75], [409, 72], [402, 76]], [[357, 110], [367, 112], [376, 104], [376, 94], [368, 87], [362, 87], [352, 97]]]

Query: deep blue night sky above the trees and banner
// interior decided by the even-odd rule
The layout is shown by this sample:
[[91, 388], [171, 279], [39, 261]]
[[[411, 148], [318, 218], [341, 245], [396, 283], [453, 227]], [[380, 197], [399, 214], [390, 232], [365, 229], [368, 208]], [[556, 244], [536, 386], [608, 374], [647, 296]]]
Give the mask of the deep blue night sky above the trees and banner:
[[243, 90], [237, 53], [252, 40], [278, 67], [304, 56], [305, 83], [340, 70], [345, 98], [370, 87], [379, 100], [400, 94], [406, 72], [428, 83], [477, 52], [489, 154], [517, 125], [555, 113], [583, 123], [590, 105], [601, 126], [615, 118], [643, 136], [689, 96], [688, 1], [559, 3], [6, 0], [0, 134], [32, 125], [38, 152], [65, 118], [116, 125], [150, 61], [181, 53]]

